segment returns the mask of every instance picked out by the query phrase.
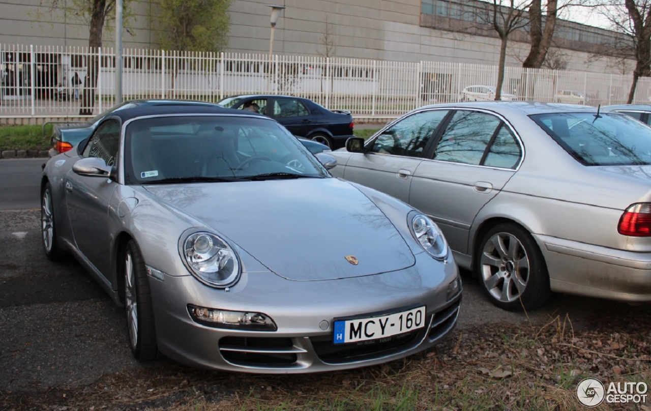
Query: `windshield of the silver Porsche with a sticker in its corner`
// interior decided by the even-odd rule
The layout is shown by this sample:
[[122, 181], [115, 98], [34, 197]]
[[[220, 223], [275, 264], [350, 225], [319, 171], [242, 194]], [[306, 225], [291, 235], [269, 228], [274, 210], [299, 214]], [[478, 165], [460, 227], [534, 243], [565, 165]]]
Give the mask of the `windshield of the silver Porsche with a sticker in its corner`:
[[135, 120], [124, 143], [127, 184], [329, 177], [277, 122], [243, 116]]

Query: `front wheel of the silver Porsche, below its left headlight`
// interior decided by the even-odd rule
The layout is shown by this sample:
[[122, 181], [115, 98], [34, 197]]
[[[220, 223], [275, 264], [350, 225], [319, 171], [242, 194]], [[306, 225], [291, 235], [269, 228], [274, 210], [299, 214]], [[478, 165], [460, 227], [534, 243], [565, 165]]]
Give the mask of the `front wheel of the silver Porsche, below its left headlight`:
[[124, 271], [124, 309], [129, 345], [140, 361], [156, 359], [156, 328], [145, 261], [135, 241], [129, 240], [122, 253]]

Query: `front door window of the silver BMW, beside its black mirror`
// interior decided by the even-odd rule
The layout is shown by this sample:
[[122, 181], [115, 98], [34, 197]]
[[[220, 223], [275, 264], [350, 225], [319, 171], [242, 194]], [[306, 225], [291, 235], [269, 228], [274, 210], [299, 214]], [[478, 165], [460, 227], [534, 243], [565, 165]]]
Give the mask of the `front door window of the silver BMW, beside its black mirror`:
[[371, 152], [422, 157], [425, 146], [447, 113], [448, 110], [421, 111], [400, 120], [378, 135]]

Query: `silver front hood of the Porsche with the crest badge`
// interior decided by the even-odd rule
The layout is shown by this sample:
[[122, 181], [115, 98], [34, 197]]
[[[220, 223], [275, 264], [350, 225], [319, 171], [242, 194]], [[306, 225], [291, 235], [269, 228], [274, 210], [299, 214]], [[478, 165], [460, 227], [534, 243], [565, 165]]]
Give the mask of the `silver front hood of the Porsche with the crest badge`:
[[146, 190], [286, 279], [370, 276], [415, 263], [380, 208], [336, 178], [151, 185]]

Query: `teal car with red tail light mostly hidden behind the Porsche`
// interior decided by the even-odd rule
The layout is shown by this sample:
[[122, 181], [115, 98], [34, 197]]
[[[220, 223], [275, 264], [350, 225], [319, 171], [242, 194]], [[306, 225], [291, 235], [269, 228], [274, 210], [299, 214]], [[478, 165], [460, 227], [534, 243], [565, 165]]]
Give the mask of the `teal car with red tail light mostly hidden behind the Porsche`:
[[[72, 147], [77, 145], [79, 141], [89, 137], [90, 134], [95, 130], [97, 125], [100, 123], [104, 117], [114, 113], [115, 111], [133, 108], [133, 107], [146, 107], [146, 106], [208, 106], [208, 107], [221, 107], [217, 104], [212, 104], [208, 102], [199, 102], [193, 100], [158, 100], [158, 99], [143, 99], [143, 100], [129, 100], [117, 104], [110, 109], [104, 111], [100, 115], [96, 115], [91, 120], [86, 122], [79, 122], [74, 124], [55, 124], [53, 127], [52, 135], [52, 148], [49, 150], [49, 156], [53, 157], [62, 152], [72, 150]], [[328, 152], [331, 151], [330, 147], [327, 145], [318, 143], [318, 141], [312, 141], [309, 139], [303, 139], [299, 137], [301, 143], [307, 147], [307, 149], [316, 154], [318, 152]]]

